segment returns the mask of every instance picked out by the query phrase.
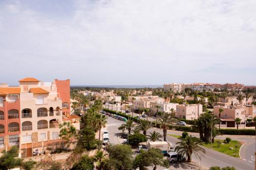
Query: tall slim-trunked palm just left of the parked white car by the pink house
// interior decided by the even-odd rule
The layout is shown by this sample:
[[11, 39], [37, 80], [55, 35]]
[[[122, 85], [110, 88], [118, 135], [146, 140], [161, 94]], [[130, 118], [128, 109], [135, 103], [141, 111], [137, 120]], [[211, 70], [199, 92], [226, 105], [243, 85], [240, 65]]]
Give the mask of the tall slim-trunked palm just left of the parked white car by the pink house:
[[169, 125], [172, 125], [177, 122], [176, 118], [173, 118], [172, 114], [164, 112], [161, 117], [157, 118], [157, 123], [160, 125], [160, 128], [163, 129], [163, 139], [166, 141], [167, 129]]

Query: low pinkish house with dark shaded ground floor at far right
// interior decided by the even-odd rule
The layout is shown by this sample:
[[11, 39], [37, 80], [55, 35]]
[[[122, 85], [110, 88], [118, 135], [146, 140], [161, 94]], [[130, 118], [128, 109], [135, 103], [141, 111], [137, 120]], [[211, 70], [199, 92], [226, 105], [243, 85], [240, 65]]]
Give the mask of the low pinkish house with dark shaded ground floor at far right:
[[241, 122], [244, 124], [246, 119], [251, 117], [245, 106], [214, 106], [214, 114], [218, 117], [220, 108], [223, 110], [220, 117], [221, 127], [236, 127], [235, 118], [241, 118]]

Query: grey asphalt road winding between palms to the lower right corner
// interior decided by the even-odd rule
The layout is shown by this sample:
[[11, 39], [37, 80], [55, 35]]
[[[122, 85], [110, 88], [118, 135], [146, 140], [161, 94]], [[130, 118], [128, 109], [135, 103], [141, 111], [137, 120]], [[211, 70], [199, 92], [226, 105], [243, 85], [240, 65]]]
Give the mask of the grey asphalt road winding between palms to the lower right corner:
[[[111, 138], [111, 142], [114, 144], [120, 144], [122, 142], [122, 140], [120, 138], [118, 138], [118, 136], [121, 134], [121, 131], [118, 130], [118, 127], [122, 124], [123, 122], [121, 122], [120, 120], [108, 117], [108, 125], [107, 125], [107, 130], [110, 131], [110, 138]], [[150, 130], [147, 131], [147, 133], [149, 132], [153, 132], [153, 131], [158, 131], [160, 133], [162, 133], [162, 131], [158, 128], [152, 128]], [[168, 134], [181, 134], [182, 132], [178, 132], [178, 131], [168, 131]], [[193, 133], [194, 135], [197, 135], [197, 133]], [[218, 137], [218, 138], [225, 138], [223, 136]], [[205, 167], [210, 167], [210, 166], [220, 166], [220, 167], [225, 167], [225, 166], [234, 166], [236, 167], [237, 170], [252, 170], [254, 169], [254, 161], [248, 161], [247, 159], [250, 157], [250, 155], [248, 156], [248, 154], [246, 154], [246, 152], [254, 152], [255, 151], [255, 143], [254, 143], [254, 150], [252, 151], [248, 151], [248, 149], [250, 150], [251, 147], [253, 147], [253, 142], [252, 140], [254, 138], [241, 138], [241, 137], [234, 137], [234, 140], [244, 140], [246, 143], [249, 143], [248, 145], [244, 145], [242, 147], [242, 152], [240, 154], [245, 154], [243, 159], [239, 159], [239, 158], [234, 158], [216, 151], [212, 151], [210, 149], [206, 149], [206, 154], [204, 154], [204, 157], [202, 156], [202, 166]], [[167, 141], [175, 144], [176, 142], [179, 141], [179, 139], [172, 137], [172, 136], [167, 136]], [[248, 148], [247, 148], [248, 147]], [[247, 156], [246, 156], [247, 155]], [[248, 157], [248, 158], [247, 158]], [[246, 159], [245, 159], [246, 158]], [[198, 162], [199, 164], [201, 163], [199, 158], [196, 158], [195, 155], [193, 155], [193, 161]], [[175, 164], [177, 166], [177, 164]]]

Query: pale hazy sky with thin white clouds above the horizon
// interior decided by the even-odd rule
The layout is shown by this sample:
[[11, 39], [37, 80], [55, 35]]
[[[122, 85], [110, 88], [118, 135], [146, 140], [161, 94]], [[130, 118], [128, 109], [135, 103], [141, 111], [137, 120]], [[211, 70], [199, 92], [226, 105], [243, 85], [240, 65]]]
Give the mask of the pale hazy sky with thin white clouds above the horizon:
[[0, 82], [256, 85], [255, 0], [0, 0]]

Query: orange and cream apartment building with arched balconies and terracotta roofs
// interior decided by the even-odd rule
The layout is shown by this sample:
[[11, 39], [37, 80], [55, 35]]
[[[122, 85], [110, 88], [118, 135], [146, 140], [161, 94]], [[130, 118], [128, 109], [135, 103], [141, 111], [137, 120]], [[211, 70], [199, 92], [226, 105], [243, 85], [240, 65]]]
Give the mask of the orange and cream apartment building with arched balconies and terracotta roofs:
[[63, 121], [71, 121], [70, 80], [25, 78], [18, 87], [0, 87], [2, 150], [17, 145], [21, 157], [30, 157], [35, 150], [54, 147], [61, 143], [59, 124]]

